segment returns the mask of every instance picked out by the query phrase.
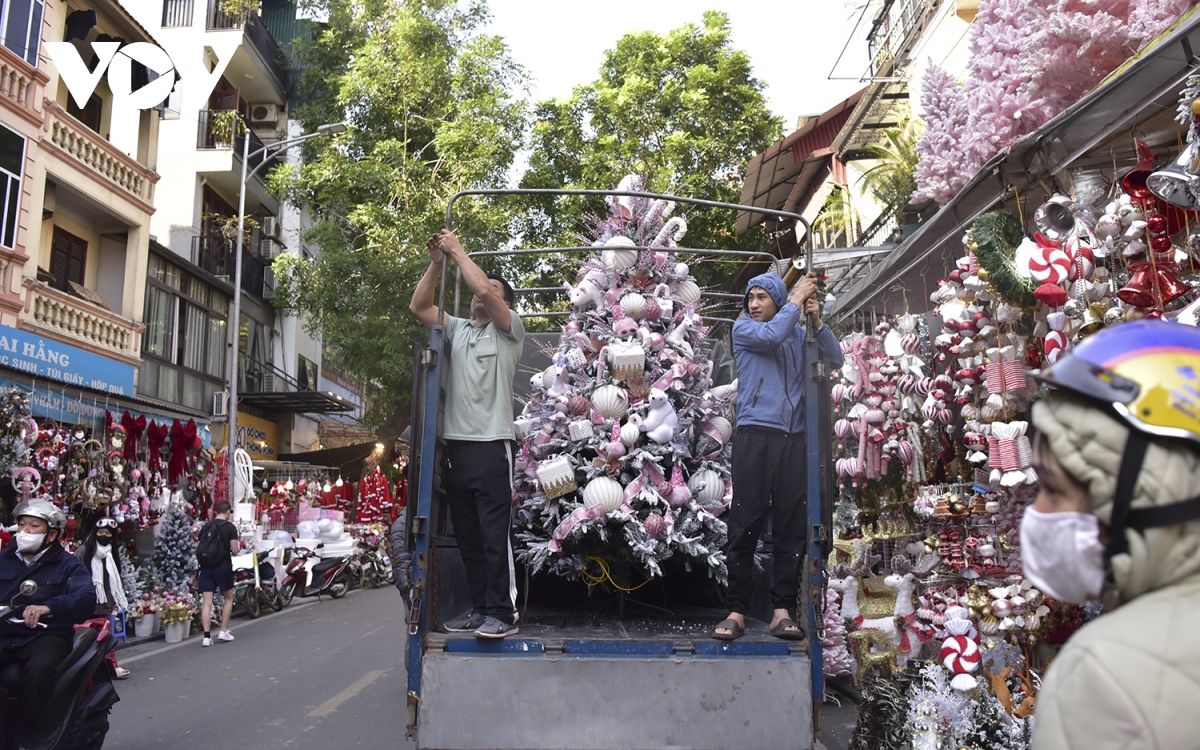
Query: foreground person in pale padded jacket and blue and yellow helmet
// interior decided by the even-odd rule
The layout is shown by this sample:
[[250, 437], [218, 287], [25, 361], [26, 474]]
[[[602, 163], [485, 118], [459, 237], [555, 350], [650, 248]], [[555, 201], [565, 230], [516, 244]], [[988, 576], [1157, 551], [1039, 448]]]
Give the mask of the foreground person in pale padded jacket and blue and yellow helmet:
[[1126, 323], [1038, 377], [1052, 390], [1033, 407], [1039, 492], [1021, 522], [1025, 574], [1054, 599], [1110, 611], [1050, 665], [1032, 746], [1195, 746], [1200, 329]]

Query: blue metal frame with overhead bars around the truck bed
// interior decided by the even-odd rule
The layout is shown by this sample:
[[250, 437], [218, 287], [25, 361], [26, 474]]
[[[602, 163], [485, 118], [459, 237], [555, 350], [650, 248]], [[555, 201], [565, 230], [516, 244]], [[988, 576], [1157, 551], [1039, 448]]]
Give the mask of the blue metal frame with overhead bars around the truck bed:
[[[809, 223], [798, 214], [788, 211], [776, 211], [749, 205], [722, 203], [716, 200], [703, 200], [680, 196], [649, 193], [640, 191], [619, 190], [472, 190], [456, 193], [446, 205], [446, 229], [452, 227], [452, 211], [455, 203], [468, 196], [593, 196], [593, 197], [632, 197], [648, 198], [652, 200], [670, 200], [689, 205], [732, 209], [766, 214], [779, 218], [791, 218], [797, 223], [797, 229], [803, 227], [804, 236], [800, 239], [805, 248], [806, 269], [812, 268], [812, 248], [809, 241]], [[644, 251], [646, 247], [630, 247], [630, 250]], [[550, 247], [540, 250], [506, 250], [485, 251], [470, 253], [472, 257], [480, 256], [520, 256], [520, 254], [552, 254], [552, 253], [583, 253], [595, 252], [595, 247]], [[720, 251], [720, 250], [695, 250], [679, 248], [694, 256], [702, 257], [740, 257], [745, 259], [764, 259], [776, 262], [769, 253], [746, 251]], [[442, 278], [438, 290], [438, 310], [445, 311], [446, 298], [446, 266], [442, 268]], [[455, 310], [457, 310], [458, 293], [455, 289]], [[808, 325], [808, 335], [804, 342], [805, 361], [809, 366], [805, 384], [805, 403], [821, 404], [821, 408], [806, 409], [805, 428], [809, 436], [818, 436], [820, 439], [806, 440], [806, 466], [808, 476], [805, 481], [808, 503], [808, 550], [803, 562], [803, 576], [800, 578], [800, 601], [808, 612], [808, 638], [803, 642], [788, 643], [775, 642], [692, 642], [686, 644], [658, 641], [622, 641], [619, 643], [604, 641], [602, 638], [580, 637], [580, 634], [563, 634], [564, 638], [527, 638], [514, 636], [503, 641], [476, 641], [474, 638], [445, 640], [434, 636], [430, 631], [432, 623], [432, 610], [436, 608], [434, 596], [434, 522], [436, 522], [436, 497], [434, 486], [439, 472], [438, 451], [438, 427], [440, 421], [443, 388], [445, 384], [445, 337], [443, 325], [434, 325], [430, 332], [428, 347], [415, 353], [414, 379], [413, 379], [413, 439], [410, 443], [412, 460], [409, 462], [410, 486], [416, 487], [413, 499], [409, 503], [409, 530], [413, 539], [413, 601], [408, 619], [408, 734], [418, 738], [418, 712], [422, 697], [422, 668], [425, 655], [432, 648], [439, 654], [461, 654], [468, 656], [476, 655], [514, 655], [529, 656], [533, 654], [575, 654], [582, 656], [664, 656], [679, 654], [680, 648], [686, 654], [696, 656], [722, 656], [743, 659], [769, 659], [788, 656], [796, 653], [797, 647], [803, 647], [810, 661], [810, 695], [812, 701], [812, 725], [811, 737], [820, 731], [820, 704], [823, 697], [822, 654], [821, 638], [823, 618], [821, 608], [824, 604], [823, 570], [824, 559], [830, 546], [830, 521], [832, 521], [832, 460], [829, 455], [830, 430], [829, 430], [829, 398], [828, 398], [828, 373], [824, 372], [823, 364], [817, 353], [816, 330]], [[820, 498], [818, 502], [812, 499]], [[768, 672], [769, 673], [769, 672]], [[422, 745], [427, 746], [427, 745]], [[532, 745], [522, 745], [532, 746]], [[562, 746], [562, 745], [559, 745]], [[582, 746], [582, 745], [581, 745]]]

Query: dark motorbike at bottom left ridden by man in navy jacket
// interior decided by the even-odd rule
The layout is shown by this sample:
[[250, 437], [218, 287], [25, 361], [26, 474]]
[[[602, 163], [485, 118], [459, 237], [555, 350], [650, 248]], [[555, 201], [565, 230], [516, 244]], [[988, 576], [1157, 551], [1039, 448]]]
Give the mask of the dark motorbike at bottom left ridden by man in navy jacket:
[[[20, 593], [7, 606], [0, 606], [0, 622], [23, 623], [25, 605], [17, 600], [35, 593], [37, 583], [23, 581]], [[31, 728], [10, 726], [8, 748], [0, 750], [17, 748], [18, 743], [29, 750], [100, 750], [108, 734], [108, 713], [120, 701], [113, 686], [113, 665], [106, 658], [115, 646], [108, 620], [98, 629], [77, 628], [71, 653], [59, 665], [59, 679], [46, 703], [42, 724]], [[0, 701], [8, 703], [5, 715], [18, 715], [14, 703], [20, 689], [19, 666], [0, 671]]]

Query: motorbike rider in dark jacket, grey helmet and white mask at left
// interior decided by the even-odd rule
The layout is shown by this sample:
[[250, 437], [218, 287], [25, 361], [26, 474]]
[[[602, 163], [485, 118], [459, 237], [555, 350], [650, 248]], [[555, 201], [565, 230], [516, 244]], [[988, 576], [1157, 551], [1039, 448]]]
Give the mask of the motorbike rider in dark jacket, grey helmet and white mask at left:
[[[67, 522], [62, 510], [34, 498], [17, 505], [13, 516], [17, 535], [0, 551], [0, 602], [16, 600], [25, 607], [20, 623], [0, 624], [0, 673], [13, 665], [20, 670], [17, 703], [22, 720], [0, 715], [0, 746], [5, 746], [8, 727], [36, 726], [59, 665], [71, 653], [74, 625], [88, 620], [96, 607], [91, 574], [62, 548]], [[37, 590], [22, 595], [23, 581], [34, 581]], [[7, 697], [0, 696], [0, 712], [7, 708]]]

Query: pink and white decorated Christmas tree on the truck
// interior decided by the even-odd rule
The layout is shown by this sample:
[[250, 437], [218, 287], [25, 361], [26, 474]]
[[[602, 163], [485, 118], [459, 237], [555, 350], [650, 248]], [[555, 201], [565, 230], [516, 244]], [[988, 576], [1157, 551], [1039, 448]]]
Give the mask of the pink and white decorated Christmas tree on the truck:
[[553, 365], [533, 378], [515, 486], [517, 556], [535, 572], [623, 586], [623, 571], [661, 576], [678, 562], [725, 581], [733, 386], [710, 386], [701, 290], [676, 245], [686, 222], [673, 210], [608, 200]]

